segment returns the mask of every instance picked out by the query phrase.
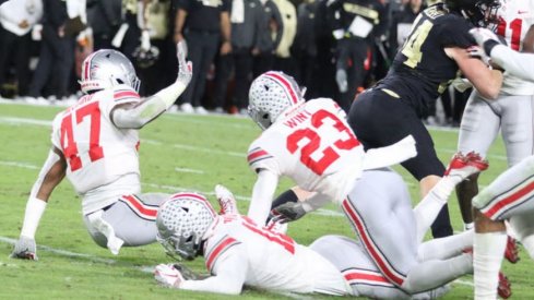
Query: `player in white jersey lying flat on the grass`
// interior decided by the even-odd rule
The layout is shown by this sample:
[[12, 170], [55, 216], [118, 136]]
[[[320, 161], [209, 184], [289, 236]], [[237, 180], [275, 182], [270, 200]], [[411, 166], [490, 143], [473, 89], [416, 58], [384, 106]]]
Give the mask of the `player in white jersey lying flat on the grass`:
[[[204, 196], [193, 193], [173, 195], [157, 214], [158, 240], [167, 253], [178, 260], [203, 255], [212, 276], [197, 279], [198, 275], [181, 265], [161, 264], [154, 272], [161, 284], [232, 295], [248, 286], [270, 291], [412, 298], [382, 276], [357, 242], [328, 236], [309, 248], [300, 245], [276, 232], [275, 226], [261, 227], [238, 215], [234, 196], [224, 187], [217, 185], [215, 193], [222, 215], [216, 215]], [[471, 244], [468, 239], [462, 241]], [[456, 242], [447, 253], [460, 254], [463, 248]], [[439, 287], [414, 298], [432, 299], [447, 290]]]

